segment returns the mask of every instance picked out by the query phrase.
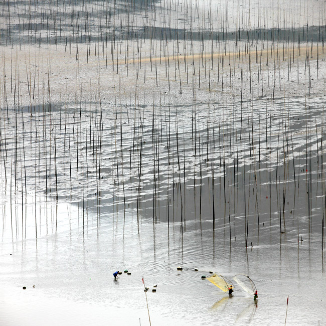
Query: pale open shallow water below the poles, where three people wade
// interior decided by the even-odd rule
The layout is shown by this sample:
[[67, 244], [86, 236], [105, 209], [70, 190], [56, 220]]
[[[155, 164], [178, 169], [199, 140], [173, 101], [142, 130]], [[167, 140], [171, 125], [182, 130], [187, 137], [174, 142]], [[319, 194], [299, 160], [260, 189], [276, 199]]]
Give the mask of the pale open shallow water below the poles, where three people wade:
[[[261, 227], [259, 244], [246, 250], [240, 239], [230, 242], [225, 229], [216, 232], [214, 246], [207, 230], [186, 232], [182, 239], [179, 225], [168, 230], [165, 223], [142, 222], [138, 234], [135, 221], [123, 227], [103, 218], [99, 228], [89, 222], [83, 232], [75, 225], [71, 231], [40, 237], [37, 244], [3, 243], [3, 324], [137, 324], [139, 318], [148, 324], [142, 277], [150, 288], [153, 324], [282, 323], [287, 295], [289, 324], [322, 324], [325, 275], [314, 234], [297, 243], [295, 234], [280, 236], [275, 228]], [[179, 265], [183, 271], [177, 271]], [[131, 275], [123, 273], [114, 281], [113, 271], [125, 268]], [[258, 303], [237, 284], [229, 298], [202, 280], [211, 270], [229, 277], [249, 274]], [[153, 284], [156, 293], [151, 292]]]

